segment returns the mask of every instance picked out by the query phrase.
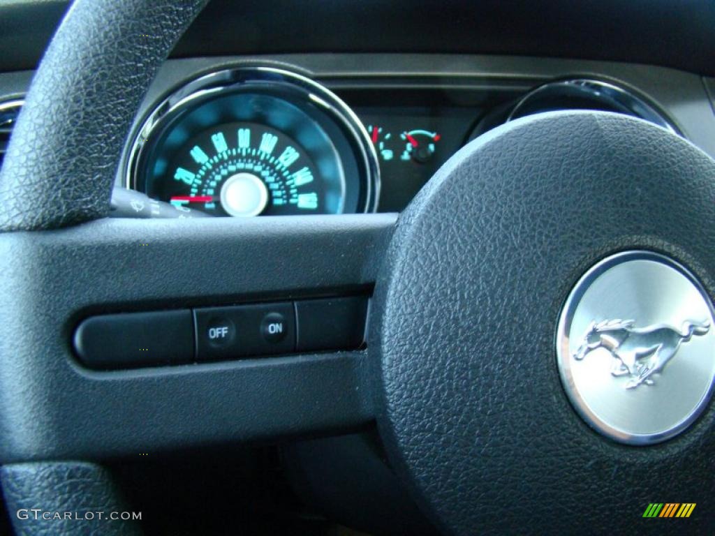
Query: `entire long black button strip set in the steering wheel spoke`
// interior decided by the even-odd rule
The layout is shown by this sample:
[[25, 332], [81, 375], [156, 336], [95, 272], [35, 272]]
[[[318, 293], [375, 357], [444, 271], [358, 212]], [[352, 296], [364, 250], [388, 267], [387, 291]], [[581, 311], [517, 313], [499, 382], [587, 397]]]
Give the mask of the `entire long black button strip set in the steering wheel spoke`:
[[79, 361], [132, 369], [296, 352], [357, 349], [368, 297], [103, 314], [74, 331]]

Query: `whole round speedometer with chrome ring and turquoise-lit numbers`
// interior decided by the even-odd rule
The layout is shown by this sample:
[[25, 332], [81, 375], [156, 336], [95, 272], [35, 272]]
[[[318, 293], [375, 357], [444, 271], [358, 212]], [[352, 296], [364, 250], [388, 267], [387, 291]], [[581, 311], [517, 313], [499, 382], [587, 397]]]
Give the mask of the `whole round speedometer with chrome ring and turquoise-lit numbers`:
[[280, 69], [202, 76], [137, 132], [127, 185], [215, 216], [371, 212], [378, 163], [334, 94]]

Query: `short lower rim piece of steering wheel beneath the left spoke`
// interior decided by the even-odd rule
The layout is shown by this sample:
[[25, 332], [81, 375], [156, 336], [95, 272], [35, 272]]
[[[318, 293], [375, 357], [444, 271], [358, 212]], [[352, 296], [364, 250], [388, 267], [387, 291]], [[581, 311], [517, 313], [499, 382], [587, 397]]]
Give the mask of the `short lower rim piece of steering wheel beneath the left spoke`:
[[[16, 536], [139, 536], [142, 530], [137, 521], [111, 520], [112, 512], [132, 512], [122, 500], [112, 475], [100, 465], [87, 462], [38, 462], [4, 465], [0, 480], [11, 514]], [[20, 509], [39, 508], [35, 512], [21, 512], [29, 519], [21, 520]], [[55, 512], [71, 512], [74, 519], [42, 519], [43, 512], [51, 517]], [[85, 520], [87, 512], [92, 519]], [[99, 519], [97, 512], [102, 512]]]

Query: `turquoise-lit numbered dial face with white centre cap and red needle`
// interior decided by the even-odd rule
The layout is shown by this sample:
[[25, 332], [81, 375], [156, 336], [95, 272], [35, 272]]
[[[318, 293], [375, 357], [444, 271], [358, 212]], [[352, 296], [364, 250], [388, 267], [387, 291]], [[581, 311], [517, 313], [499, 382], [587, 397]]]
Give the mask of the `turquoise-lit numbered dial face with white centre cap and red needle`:
[[342, 182], [321, 177], [295, 139], [257, 123], [202, 131], [179, 149], [167, 175], [147, 189], [150, 197], [217, 216], [343, 211]]

